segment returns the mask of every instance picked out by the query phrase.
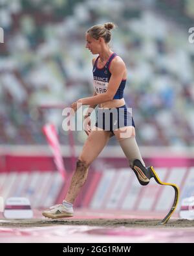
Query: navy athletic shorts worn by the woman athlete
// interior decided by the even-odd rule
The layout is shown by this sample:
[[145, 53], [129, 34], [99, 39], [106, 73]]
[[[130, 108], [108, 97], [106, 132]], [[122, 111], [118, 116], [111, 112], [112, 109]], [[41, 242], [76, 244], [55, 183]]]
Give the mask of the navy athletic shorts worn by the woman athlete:
[[125, 126], [135, 127], [130, 110], [125, 105], [114, 109], [98, 108], [95, 126], [112, 133], [114, 130]]

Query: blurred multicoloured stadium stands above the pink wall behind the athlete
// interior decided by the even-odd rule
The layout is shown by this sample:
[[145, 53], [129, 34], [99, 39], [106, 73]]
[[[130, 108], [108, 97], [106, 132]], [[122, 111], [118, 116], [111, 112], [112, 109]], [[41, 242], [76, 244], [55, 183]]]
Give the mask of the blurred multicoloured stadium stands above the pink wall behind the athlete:
[[[85, 31], [114, 21], [111, 47], [127, 65], [125, 101], [133, 108], [138, 144], [194, 146], [194, 47], [184, 20], [180, 26], [168, 19], [158, 1], [43, 2], [0, 2], [0, 144], [46, 144], [46, 122], [54, 122], [68, 144], [61, 110], [38, 106], [67, 106], [92, 95]], [[85, 134], [74, 134], [82, 144]]]

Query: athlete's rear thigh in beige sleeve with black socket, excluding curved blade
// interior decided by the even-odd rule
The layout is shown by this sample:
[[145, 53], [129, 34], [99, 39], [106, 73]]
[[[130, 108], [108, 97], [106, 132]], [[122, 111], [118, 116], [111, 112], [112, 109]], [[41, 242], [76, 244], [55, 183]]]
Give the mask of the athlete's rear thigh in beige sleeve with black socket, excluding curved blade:
[[135, 139], [135, 127], [127, 126], [114, 130], [114, 135], [129, 160], [129, 166], [135, 172], [141, 185], [149, 183], [150, 172], [147, 170], [140, 149]]

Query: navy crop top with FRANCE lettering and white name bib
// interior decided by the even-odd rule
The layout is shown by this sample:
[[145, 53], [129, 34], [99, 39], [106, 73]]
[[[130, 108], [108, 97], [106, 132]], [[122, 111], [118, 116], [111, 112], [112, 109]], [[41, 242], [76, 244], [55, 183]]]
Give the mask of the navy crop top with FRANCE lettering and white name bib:
[[[109, 71], [109, 66], [111, 64], [111, 61], [114, 57], [116, 57], [116, 53], [113, 53], [109, 60], [107, 60], [107, 63], [103, 68], [97, 67], [98, 58], [96, 58], [96, 61], [94, 62], [93, 66], [93, 85], [94, 90], [96, 94], [103, 94], [107, 92], [107, 87], [109, 84], [109, 80], [111, 77], [111, 72]], [[120, 83], [120, 86], [118, 87], [118, 90], [116, 91], [116, 94], [114, 95], [113, 99], [122, 99], [124, 97], [124, 88], [125, 88], [126, 80], [122, 80]]]

